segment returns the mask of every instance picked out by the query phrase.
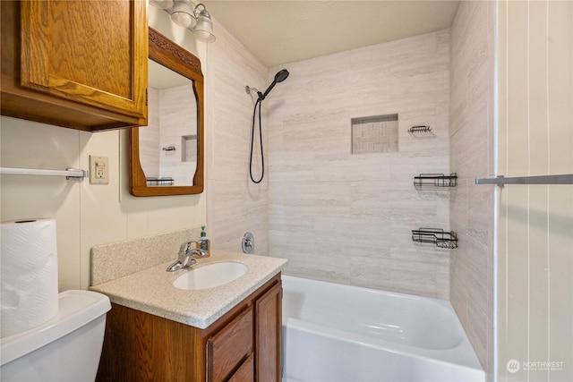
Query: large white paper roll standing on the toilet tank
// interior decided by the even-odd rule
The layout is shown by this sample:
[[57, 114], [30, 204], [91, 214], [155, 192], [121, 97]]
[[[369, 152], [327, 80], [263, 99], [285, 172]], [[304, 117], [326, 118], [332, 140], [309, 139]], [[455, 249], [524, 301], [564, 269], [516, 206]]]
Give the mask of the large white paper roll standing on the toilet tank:
[[0, 336], [5, 337], [38, 327], [56, 317], [56, 221], [3, 222], [0, 234]]

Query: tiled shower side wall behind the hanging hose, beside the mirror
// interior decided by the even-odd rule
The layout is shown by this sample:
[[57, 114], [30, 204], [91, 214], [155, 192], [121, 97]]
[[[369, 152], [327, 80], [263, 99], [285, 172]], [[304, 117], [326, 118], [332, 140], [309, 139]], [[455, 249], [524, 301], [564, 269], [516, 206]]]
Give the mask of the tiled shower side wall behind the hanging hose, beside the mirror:
[[[208, 234], [218, 250], [241, 252], [246, 231], [255, 239], [255, 253], [268, 250], [268, 168], [263, 181], [249, 179], [252, 108], [254, 100], [245, 92], [249, 85], [264, 91], [269, 69], [218, 22], [217, 43], [207, 50], [205, 126], [207, 138], [207, 216]], [[263, 149], [266, 145], [267, 106], [263, 106]], [[258, 141], [258, 135], [255, 136]], [[258, 154], [257, 154], [258, 153]], [[253, 175], [259, 177], [257, 159], [261, 149], [255, 146]], [[265, 163], [268, 162], [265, 158]]]

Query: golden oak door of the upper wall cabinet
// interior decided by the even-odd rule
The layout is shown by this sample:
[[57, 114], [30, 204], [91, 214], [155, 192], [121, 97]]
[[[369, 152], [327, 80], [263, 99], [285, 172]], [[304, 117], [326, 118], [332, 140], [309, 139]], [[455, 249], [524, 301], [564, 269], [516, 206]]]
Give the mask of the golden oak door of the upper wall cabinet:
[[147, 2], [21, 2], [21, 86], [147, 119]]

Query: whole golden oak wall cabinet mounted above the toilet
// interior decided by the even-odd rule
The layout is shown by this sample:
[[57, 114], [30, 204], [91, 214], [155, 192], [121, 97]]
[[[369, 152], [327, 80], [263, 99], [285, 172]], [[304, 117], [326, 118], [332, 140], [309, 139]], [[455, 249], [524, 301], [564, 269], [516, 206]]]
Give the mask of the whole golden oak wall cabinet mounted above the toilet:
[[2, 115], [95, 132], [147, 125], [147, 2], [1, 1]]

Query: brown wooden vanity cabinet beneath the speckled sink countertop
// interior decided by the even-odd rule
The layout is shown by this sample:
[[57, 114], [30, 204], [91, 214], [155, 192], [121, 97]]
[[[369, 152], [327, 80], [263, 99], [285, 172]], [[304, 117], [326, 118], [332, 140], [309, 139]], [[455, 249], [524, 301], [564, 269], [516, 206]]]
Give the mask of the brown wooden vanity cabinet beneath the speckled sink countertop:
[[199, 329], [112, 304], [97, 381], [280, 382], [280, 274]]

